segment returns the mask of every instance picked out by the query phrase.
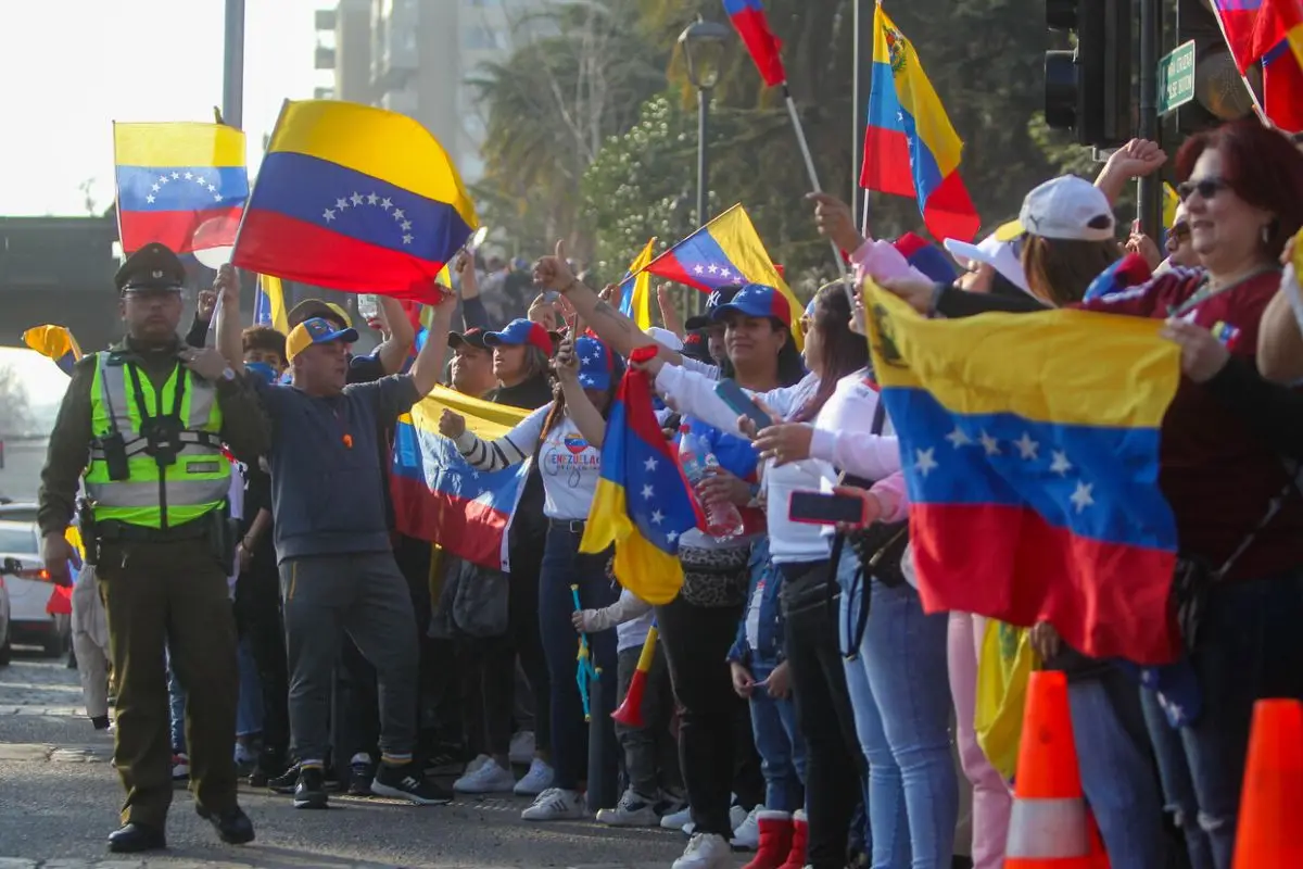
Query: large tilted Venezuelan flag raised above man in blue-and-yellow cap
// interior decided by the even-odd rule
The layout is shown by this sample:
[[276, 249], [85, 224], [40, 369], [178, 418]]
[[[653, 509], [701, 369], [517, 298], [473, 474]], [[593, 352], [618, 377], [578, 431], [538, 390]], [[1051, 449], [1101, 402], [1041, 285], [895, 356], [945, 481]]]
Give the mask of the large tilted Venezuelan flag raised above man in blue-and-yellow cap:
[[287, 102], [233, 262], [317, 287], [433, 302], [435, 276], [480, 225], [456, 167], [410, 117]]

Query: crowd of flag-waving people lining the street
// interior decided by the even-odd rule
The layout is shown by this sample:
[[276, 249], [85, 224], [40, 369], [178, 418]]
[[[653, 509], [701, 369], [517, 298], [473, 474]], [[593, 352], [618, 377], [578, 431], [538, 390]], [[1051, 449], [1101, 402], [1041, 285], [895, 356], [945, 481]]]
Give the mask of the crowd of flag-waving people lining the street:
[[[951, 259], [912, 236], [864, 236], [833, 197], [814, 195], [813, 208], [856, 278], [930, 317], [1072, 307], [1167, 321], [1183, 379], [1162, 425], [1158, 487], [1182, 556], [1214, 568], [1184, 693], [1177, 702], [1170, 687], [1141, 685], [1134, 668], [1081, 654], [1053, 625], [1019, 627], [1041, 667], [1067, 674], [1081, 786], [1114, 869], [1230, 869], [1253, 702], [1303, 698], [1293, 633], [1303, 623], [1294, 479], [1303, 400], [1290, 388], [1303, 377], [1303, 302], [1281, 279], [1303, 228], [1303, 154], [1248, 121], [1196, 135], [1175, 156], [1182, 203], [1164, 249], [1139, 233], [1119, 241], [1118, 197], [1166, 162], [1156, 145], [1132, 141], [1095, 184], [1063, 176], [1029, 192], [1015, 233], [946, 241]], [[1088, 296], [1128, 253], [1153, 276]], [[133, 284], [132, 268], [128, 261], [120, 275], [130, 349], [145, 354], [151, 330], [171, 348], [176, 284], [159, 280], [165, 268]], [[562, 255], [547, 255], [534, 264], [529, 315], [495, 323], [469, 259], [457, 274], [460, 331], [456, 296], [434, 307], [421, 341], [401, 305], [382, 298], [384, 340], [369, 356], [352, 354], [358, 331], [326, 302], [294, 307], [288, 335], [241, 330], [229, 268], [201, 306], [188, 344], [203, 348], [214, 318], [216, 347], [182, 350], [182, 361], [229, 401], [212, 430], [240, 470], [229, 483], [240, 524], [232, 651], [210, 653], [215, 663], [202, 670], [189, 655], [181, 663], [179, 645], [201, 641], [188, 637], [186, 619], [168, 620], [165, 642], [158, 632], [152, 641], [181, 664], [171, 667], [172, 745], [163, 747], [172, 776], [192, 779], [223, 838], [253, 835], [251, 826], [248, 838], [233, 833], [229, 760], [301, 809], [326, 806], [335, 788], [417, 804], [513, 792], [532, 797], [521, 814], [530, 822], [681, 829], [689, 839], [674, 869], [732, 866], [735, 848], [754, 852], [749, 869], [943, 869], [956, 852], [979, 869], [1003, 865], [1012, 771], [975, 730], [990, 625], [920, 602], [906, 545], [909, 492], [861, 301], [834, 283], [794, 310], [778, 289], [741, 284], [713, 293], [684, 323], [663, 305], [665, 327], [644, 331], [616, 310], [611, 288], [585, 285]], [[70, 396], [85, 396], [93, 379], [95, 388], [112, 382], [96, 365], [78, 367]], [[607, 416], [631, 365], [654, 378], [665, 436], [691, 439], [678, 455], [709, 457], [694, 487], [709, 521], [678, 541], [683, 588], [658, 606], [620, 588], [610, 552], [580, 548]], [[722, 378], [773, 425], [757, 430], [739, 417], [715, 390]], [[394, 530], [394, 426], [440, 382], [528, 412], [498, 438], [451, 410], [438, 422], [478, 472], [529, 468], [507, 571]], [[85, 426], [104, 434], [98, 416]], [[89, 486], [108, 479], [96, 451], [100, 440]], [[68, 455], [56, 435], [42, 494], [47, 564], [68, 560], [69, 477], [86, 466], [72, 461], [69, 474]], [[794, 521], [795, 494], [834, 489], [863, 499], [863, 522]], [[100, 594], [74, 594], [74, 608], [107, 603], [111, 632], [142, 629], [126, 615], [139, 601], [113, 576], [130, 567], [124, 546], [100, 543], [98, 567], [78, 578], [93, 589], [98, 572]], [[869, 559], [893, 550], [894, 560]], [[216, 631], [203, 642], [222, 649]], [[640, 722], [612, 722], [653, 631]], [[618, 679], [590, 710], [576, 681], [581, 637]], [[124, 823], [145, 830], [116, 848], [129, 851], [162, 844], [167, 803], [150, 801], [163, 783], [141, 771], [155, 769], [162, 749], [129, 735], [139, 724], [126, 710], [143, 702], [149, 664], [129, 662], [121, 645], [102, 655], [117, 679], [119, 765], [134, 770], [122, 774]], [[107, 727], [104, 668], [89, 657], [79, 650], [86, 684], [100, 687], [87, 692], [87, 711]], [[162, 674], [160, 663], [154, 679]], [[188, 752], [186, 736], [202, 749]], [[960, 788], [972, 793], [971, 847], [956, 842]]]

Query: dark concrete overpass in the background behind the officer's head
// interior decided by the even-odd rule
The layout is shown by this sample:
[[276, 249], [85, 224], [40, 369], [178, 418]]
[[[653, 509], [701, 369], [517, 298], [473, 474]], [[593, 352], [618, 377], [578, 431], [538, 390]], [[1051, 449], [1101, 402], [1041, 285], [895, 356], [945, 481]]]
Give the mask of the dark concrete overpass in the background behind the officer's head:
[[[119, 340], [116, 241], [112, 210], [102, 218], [0, 218], [0, 347], [20, 347], [23, 331], [42, 323], [66, 326], [87, 353]], [[197, 291], [212, 284], [214, 272], [193, 257], [182, 259], [189, 272], [184, 332]], [[254, 283], [251, 275], [244, 278], [241, 310], [248, 323]], [[287, 284], [285, 294], [289, 306], [308, 297], [327, 298], [345, 306], [357, 322], [357, 297], [351, 293]], [[370, 341], [364, 340], [364, 347]]]

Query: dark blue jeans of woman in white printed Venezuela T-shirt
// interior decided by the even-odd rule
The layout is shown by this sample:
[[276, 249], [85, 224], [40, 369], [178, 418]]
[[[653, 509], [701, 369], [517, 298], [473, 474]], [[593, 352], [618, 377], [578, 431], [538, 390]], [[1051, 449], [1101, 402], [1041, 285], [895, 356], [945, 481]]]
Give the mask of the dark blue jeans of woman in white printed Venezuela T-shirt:
[[[580, 555], [582, 533], [568, 528], [550, 528], [543, 548], [543, 569], [538, 577], [538, 632], [543, 640], [543, 657], [551, 677], [552, 786], [579, 790], [588, 767], [588, 723], [575, 680], [579, 655], [579, 633], [571, 624], [575, 598], [571, 585], [579, 586], [580, 606], [585, 610], [609, 607], [620, 597], [619, 588], [606, 576], [609, 554]], [[593, 720], [610, 728], [606, 734], [603, 762], [614, 769], [619, 763], [611, 713], [616, 698], [615, 631], [588, 634], [593, 666], [602, 671], [601, 704], [593, 705]], [[598, 775], [588, 770], [588, 776]]]

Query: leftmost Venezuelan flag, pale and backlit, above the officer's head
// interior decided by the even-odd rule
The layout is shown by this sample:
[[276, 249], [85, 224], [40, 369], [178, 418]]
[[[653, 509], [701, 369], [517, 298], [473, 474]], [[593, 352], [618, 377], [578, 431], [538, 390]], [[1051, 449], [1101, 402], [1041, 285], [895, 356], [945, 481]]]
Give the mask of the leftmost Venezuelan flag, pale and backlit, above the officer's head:
[[245, 135], [222, 124], [113, 124], [117, 232], [184, 254], [235, 244], [249, 199]]

